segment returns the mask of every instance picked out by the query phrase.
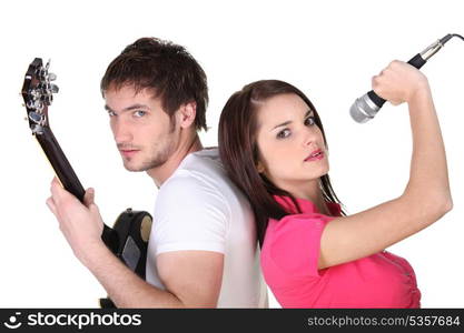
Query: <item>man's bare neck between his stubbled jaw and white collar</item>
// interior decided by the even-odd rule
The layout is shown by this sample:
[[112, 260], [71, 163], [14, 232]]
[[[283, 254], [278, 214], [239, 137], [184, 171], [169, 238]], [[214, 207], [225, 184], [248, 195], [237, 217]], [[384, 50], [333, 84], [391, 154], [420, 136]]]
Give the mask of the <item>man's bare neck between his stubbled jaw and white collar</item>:
[[147, 173], [155, 181], [157, 188], [160, 188], [162, 183], [171, 176], [171, 174], [179, 167], [180, 162], [189, 154], [203, 149], [201, 141], [197, 133], [190, 140], [180, 143], [171, 157], [158, 168], [147, 170]]

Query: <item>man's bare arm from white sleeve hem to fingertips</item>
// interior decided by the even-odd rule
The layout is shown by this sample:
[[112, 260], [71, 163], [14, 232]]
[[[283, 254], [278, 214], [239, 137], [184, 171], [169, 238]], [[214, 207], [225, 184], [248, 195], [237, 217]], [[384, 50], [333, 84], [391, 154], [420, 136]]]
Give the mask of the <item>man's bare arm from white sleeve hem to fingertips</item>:
[[101, 240], [103, 222], [86, 191], [85, 204], [51, 182], [47, 205], [59, 222], [75, 255], [97, 278], [118, 307], [215, 307], [224, 270], [224, 254], [213, 251], [174, 251], [158, 255], [160, 290], [130, 271]]

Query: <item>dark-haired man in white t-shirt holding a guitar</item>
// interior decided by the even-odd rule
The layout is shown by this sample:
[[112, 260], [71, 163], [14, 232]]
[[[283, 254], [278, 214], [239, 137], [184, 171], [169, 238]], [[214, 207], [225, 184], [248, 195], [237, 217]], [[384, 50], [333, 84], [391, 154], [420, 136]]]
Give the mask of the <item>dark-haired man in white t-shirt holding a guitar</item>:
[[265, 306], [253, 213], [197, 134], [207, 129], [200, 65], [180, 46], [142, 38], [109, 64], [101, 92], [125, 168], [159, 188], [147, 282], [101, 241], [93, 190], [81, 204], [53, 180], [47, 204], [76, 256], [118, 307]]

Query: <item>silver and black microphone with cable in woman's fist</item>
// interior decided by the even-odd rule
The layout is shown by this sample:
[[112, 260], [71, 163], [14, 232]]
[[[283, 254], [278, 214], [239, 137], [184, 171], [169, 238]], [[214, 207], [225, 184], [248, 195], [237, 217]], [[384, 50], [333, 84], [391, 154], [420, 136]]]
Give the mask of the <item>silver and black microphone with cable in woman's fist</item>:
[[[419, 69], [427, 62], [428, 59], [432, 58], [436, 52], [438, 52], [443, 46], [453, 37], [460, 37], [464, 40], [464, 38], [460, 34], [448, 33], [444, 38], [438, 39], [436, 42], [431, 44], [421, 53], [414, 56], [407, 63], [414, 65], [416, 69]], [[349, 109], [349, 114], [352, 118], [358, 123], [365, 123], [373, 119], [377, 112], [381, 110], [382, 105], [386, 101], [377, 95], [374, 90], [371, 90], [363, 97], [356, 99], [353, 103], [352, 108]]]

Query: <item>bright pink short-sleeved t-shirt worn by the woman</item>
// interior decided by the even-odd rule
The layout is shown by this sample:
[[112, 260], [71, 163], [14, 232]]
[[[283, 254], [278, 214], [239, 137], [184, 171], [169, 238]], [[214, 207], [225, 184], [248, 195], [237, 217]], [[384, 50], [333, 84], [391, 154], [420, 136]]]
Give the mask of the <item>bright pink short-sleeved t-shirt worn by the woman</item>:
[[[275, 196], [296, 212], [288, 198]], [[318, 270], [320, 235], [334, 219], [308, 200], [297, 199], [302, 214], [269, 220], [261, 249], [266, 283], [283, 307], [419, 307], [421, 292], [406, 260], [383, 251]], [[338, 204], [329, 203], [334, 216]]]

